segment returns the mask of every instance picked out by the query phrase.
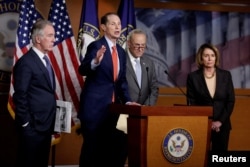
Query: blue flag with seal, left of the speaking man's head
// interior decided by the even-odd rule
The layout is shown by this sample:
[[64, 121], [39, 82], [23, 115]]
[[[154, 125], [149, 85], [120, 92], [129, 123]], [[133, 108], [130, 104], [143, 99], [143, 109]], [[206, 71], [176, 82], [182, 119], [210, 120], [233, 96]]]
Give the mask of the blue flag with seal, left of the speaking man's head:
[[78, 32], [77, 48], [80, 60], [84, 58], [87, 46], [100, 37], [97, 0], [85, 0]]

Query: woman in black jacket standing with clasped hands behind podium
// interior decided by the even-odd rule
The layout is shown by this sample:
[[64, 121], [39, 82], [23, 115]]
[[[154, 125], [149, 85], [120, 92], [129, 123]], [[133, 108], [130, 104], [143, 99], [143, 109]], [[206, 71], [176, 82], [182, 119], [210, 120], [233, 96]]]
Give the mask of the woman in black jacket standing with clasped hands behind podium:
[[210, 44], [199, 48], [196, 63], [198, 70], [187, 78], [187, 101], [190, 105], [213, 106], [212, 151], [224, 152], [228, 149], [235, 103], [231, 73], [218, 67], [219, 52]]

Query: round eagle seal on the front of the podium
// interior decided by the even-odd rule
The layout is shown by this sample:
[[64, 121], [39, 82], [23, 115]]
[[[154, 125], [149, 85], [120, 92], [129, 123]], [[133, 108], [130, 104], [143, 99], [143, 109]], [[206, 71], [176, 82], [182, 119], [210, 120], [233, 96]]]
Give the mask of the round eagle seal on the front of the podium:
[[165, 158], [172, 163], [183, 163], [193, 151], [193, 137], [182, 128], [176, 128], [167, 133], [162, 143]]

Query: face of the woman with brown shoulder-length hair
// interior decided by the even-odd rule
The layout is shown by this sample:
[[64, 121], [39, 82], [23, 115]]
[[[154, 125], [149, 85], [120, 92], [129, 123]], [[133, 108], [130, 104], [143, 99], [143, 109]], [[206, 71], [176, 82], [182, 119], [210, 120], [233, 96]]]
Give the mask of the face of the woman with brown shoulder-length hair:
[[205, 68], [215, 67], [216, 56], [212, 49], [206, 48], [202, 54], [202, 62]]

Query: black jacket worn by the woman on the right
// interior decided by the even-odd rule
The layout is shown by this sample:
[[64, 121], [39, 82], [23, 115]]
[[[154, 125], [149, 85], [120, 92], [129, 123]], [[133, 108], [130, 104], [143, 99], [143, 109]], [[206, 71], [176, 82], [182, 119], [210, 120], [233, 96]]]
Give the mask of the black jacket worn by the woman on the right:
[[216, 89], [211, 97], [203, 75], [199, 69], [188, 75], [187, 98], [191, 105], [213, 106], [213, 120], [221, 121], [224, 128], [231, 128], [230, 116], [233, 112], [235, 95], [231, 73], [216, 68]]

